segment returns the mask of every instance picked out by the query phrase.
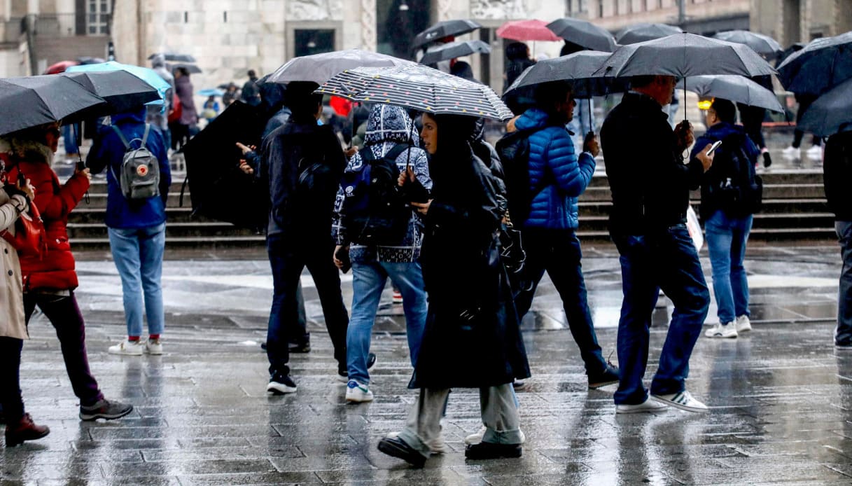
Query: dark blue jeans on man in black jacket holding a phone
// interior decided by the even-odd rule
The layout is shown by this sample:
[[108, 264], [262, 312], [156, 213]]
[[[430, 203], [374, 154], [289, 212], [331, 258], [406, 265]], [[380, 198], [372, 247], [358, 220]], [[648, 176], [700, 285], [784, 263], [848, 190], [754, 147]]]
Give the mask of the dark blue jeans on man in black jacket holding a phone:
[[613, 234], [613, 240], [621, 255], [624, 292], [618, 338], [621, 380], [615, 402], [636, 405], [648, 399], [642, 377], [648, 365], [648, 329], [659, 289], [671, 298], [675, 310], [651, 382], [654, 395], [685, 390], [689, 356], [707, 316], [710, 291], [686, 225], [645, 235]]

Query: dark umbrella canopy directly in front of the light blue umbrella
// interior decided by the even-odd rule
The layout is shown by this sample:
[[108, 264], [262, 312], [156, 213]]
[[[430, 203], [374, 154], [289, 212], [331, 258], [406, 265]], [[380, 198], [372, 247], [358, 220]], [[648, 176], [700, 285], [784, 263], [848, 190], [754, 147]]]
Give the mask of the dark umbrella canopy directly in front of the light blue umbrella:
[[71, 78], [101, 96], [112, 113], [126, 112], [148, 101], [162, 100], [156, 88], [126, 71], [63, 72], [60, 76]]

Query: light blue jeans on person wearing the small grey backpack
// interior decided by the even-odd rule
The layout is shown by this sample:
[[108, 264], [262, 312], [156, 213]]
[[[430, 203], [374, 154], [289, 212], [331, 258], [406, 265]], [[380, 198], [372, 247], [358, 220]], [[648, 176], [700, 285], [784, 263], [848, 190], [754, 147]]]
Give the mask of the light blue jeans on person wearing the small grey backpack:
[[109, 228], [112, 259], [121, 275], [124, 296], [124, 320], [127, 335], [142, 334], [142, 297], [149, 334], [162, 334], [164, 327], [163, 252], [165, 223], [147, 228]]

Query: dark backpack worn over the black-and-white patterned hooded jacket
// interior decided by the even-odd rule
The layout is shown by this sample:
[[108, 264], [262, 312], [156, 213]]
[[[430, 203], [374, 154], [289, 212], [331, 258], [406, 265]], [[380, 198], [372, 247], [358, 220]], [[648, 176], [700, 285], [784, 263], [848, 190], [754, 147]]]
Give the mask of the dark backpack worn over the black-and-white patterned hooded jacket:
[[343, 226], [348, 240], [360, 245], [398, 245], [405, 238], [412, 209], [397, 186], [396, 159], [405, 144], [396, 144], [381, 159], [371, 148], [359, 152], [362, 164], [343, 172]]

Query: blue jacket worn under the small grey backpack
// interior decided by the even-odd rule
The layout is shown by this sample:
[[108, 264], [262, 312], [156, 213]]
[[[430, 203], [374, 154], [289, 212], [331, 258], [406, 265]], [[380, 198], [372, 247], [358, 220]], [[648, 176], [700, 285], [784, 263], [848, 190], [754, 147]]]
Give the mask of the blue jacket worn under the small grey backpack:
[[[138, 148], [140, 142], [133, 142], [145, 134], [145, 111], [118, 113], [112, 115], [112, 125], [117, 126], [130, 146]], [[147, 228], [165, 222], [165, 201], [169, 195], [171, 171], [166, 155], [165, 142], [158, 130], [150, 130], [145, 143], [147, 149], [159, 161], [160, 181], [159, 197], [147, 200], [127, 200], [121, 192], [121, 184], [116, 176], [121, 174], [124, 159], [124, 142], [118, 138], [115, 130], [101, 130], [86, 157], [86, 165], [97, 174], [107, 171], [107, 217], [110, 228]]]

